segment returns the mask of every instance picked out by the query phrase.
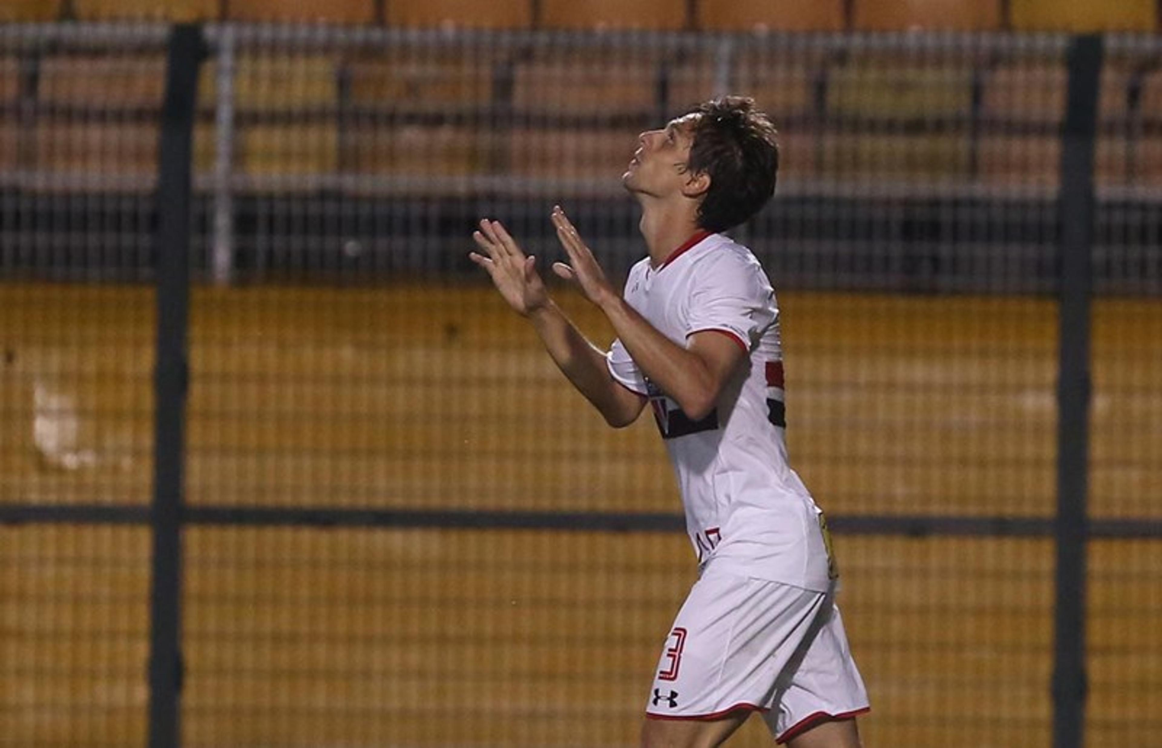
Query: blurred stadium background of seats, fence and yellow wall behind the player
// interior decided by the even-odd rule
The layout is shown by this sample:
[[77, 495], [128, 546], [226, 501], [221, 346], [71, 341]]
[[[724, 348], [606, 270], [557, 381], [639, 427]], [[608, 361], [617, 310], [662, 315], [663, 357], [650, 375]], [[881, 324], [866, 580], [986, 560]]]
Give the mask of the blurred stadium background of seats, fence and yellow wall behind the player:
[[[185, 123], [175, 23], [208, 51]], [[1154, 0], [0, 2], [0, 745], [636, 745], [694, 574], [669, 466], [465, 253], [493, 216], [555, 258], [560, 202], [623, 274], [637, 134], [722, 93], [781, 130], [736, 233], [867, 745], [1156, 745], [1157, 29]]]

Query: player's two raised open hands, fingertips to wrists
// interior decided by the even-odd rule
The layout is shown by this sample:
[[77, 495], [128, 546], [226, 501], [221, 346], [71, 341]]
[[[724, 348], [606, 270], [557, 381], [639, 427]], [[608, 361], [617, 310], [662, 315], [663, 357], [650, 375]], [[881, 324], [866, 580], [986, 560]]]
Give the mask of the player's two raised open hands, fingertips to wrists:
[[[552, 221], [557, 238], [569, 258], [568, 264], [553, 262], [553, 272], [576, 283], [595, 304], [616, 297], [617, 292], [560, 206], [553, 207]], [[548, 293], [537, 272], [536, 257], [525, 256], [500, 221], [483, 218], [472, 238], [483, 254], [469, 252], [468, 258], [488, 272], [501, 296], [517, 314], [528, 317], [548, 303]]]

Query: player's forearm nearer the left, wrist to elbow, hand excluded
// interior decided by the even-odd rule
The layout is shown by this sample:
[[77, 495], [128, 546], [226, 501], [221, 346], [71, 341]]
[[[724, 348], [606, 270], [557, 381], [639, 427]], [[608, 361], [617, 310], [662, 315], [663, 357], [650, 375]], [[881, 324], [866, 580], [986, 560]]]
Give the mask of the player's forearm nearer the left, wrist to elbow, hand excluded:
[[548, 355], [586, 400], [593, 403], [611, 426], [632, 423], [641, 410], [634, 396], [614, 381], [605, 366], [605, 354], [589, 343], [581, 331], [550, 301], [529, 315]]

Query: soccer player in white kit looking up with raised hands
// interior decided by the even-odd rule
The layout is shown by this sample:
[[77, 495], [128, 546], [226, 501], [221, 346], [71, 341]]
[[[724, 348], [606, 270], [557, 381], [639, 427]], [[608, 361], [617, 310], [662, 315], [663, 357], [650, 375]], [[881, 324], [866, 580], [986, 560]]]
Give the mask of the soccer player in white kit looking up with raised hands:
[[605, 420], [648, 403], [677, 474], [700, 576], [662, 646], [641, 745], [722, 745], [759, 712], [791, 748], [858, 748], [867, 693], [833, 603], [823, 513], [787, 461], [779, 307], [723, 231], [774, 194], [775, 128], [751, 99], [700, 105], [643, 132], [622, 175], [648, 257], [617, 293], [565, 213], [552, 222], [576, 283], [617, 333], [590, 344], [497, 221], [473, 233], [503, 299]]

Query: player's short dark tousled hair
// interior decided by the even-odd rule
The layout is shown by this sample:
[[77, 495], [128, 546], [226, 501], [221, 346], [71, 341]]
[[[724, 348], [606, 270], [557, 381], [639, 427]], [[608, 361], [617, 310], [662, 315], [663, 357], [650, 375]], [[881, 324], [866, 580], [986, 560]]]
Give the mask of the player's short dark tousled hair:
[[723, 96], [689, 112], [694, 120], [688, 167], [710, 177], [698, 206], [698, 226], [725, 231], [755, 213], [775, 194], [779, 142], [775, 125], [754, 99]]

